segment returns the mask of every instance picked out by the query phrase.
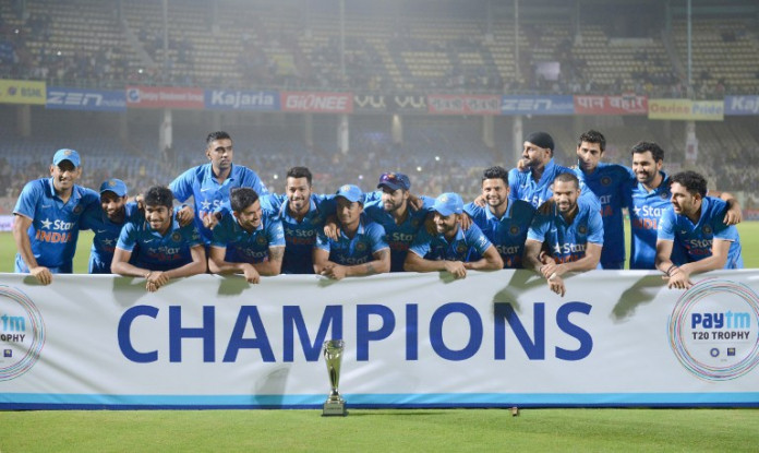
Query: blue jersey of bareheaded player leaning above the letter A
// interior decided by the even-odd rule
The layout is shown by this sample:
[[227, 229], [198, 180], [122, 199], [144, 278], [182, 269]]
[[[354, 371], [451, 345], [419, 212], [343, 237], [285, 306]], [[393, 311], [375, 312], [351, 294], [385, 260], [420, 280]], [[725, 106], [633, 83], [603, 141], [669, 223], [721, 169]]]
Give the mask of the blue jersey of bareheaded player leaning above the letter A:
[[225, 261], [230, 263], [261, 263], [268, 259], [269, 247], [285, 247], [282, 223], [276, 213], [262, 211], [261, 225], [248, 233], [227, 213], [214, 228], [210, 247], [226, 248]]

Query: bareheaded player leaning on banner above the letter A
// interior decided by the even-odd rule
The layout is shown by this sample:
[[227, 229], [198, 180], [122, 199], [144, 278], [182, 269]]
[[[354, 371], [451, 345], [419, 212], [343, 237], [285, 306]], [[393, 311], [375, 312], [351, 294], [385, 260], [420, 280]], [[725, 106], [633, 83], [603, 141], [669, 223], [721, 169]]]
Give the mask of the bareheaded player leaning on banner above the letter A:
[[238, 188], [229, 200], [231, 214], [214, 227], [208, 251], [208, 269], [214, 274], [243, 274], [249, 283], [261, 275], [278, 275], [285, 253], [281, 222], [270, 211], [262, 211], [255, 190]]

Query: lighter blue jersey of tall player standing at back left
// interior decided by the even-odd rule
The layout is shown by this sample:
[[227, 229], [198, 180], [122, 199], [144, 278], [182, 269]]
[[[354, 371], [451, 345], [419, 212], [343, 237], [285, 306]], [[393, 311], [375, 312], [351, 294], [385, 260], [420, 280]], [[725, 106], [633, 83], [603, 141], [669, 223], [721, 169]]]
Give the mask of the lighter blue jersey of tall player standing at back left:
[[232, 165], [229, 177], [222, 183], [216, 180], [212, 165], [205, 164], [190, 168], [169, 184], [180, 202], [183, 203], [190, 196], [194, 199], [195, 226], [206, 245], [210, 243], [213, 231], [203, 226], [203, 216], [217, 211], [221, 203], [229, 200], [229, 192], [239, 187], [252, 188], [260, 196], [268, 193], [258, 175], [241, 165]]

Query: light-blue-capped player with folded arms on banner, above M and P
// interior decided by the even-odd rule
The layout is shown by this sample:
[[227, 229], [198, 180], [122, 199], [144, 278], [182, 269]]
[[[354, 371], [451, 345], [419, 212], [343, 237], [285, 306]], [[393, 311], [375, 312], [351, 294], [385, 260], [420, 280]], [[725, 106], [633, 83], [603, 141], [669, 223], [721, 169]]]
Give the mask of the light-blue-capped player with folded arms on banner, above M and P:
[[314, 272], [334, 279], [381, 274], [390, 271], [390, 249], [382, 225], [369, 222], [363, 212], [363, 193], [357, 186], [342, 186], [335, 194], [337, 240], [324, 231], [316, 238]]

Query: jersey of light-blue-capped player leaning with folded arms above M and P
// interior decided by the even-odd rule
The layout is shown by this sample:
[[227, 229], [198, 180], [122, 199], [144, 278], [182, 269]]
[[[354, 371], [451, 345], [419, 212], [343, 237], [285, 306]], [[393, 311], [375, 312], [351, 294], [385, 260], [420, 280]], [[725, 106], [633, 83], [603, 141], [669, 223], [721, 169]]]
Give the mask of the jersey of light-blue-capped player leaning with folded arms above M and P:
[[328, 251], [329, 261], [346, 266], [374, 261], [374, 253], [388, 247], [382, 225], [366, 222], [363, 217], [352, 239], [342, 230], [338, 240], [327, 238], [324, 231], [316, 237], [316, 248]]

